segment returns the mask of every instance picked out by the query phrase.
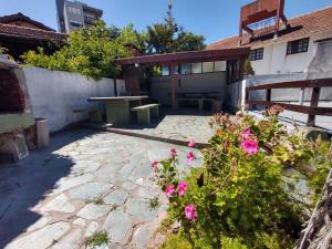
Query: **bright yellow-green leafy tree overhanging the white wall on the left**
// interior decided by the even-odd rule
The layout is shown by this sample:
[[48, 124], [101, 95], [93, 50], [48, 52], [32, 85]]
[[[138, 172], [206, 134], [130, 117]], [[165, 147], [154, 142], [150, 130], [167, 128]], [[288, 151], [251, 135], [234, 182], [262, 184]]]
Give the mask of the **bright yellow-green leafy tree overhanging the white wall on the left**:
[[144, 40], [133, 25], [106, 28], [98, 20], [89, 29], [72, 31], [68, 43], [52, 55], [39, 49], [38, 52], [29, 51], [22, 59], [27, 65], [77, 72], [96, 80], [114, 77], [121, 70], [114, 60], [133, 55], [128, 45], [143, 49]]

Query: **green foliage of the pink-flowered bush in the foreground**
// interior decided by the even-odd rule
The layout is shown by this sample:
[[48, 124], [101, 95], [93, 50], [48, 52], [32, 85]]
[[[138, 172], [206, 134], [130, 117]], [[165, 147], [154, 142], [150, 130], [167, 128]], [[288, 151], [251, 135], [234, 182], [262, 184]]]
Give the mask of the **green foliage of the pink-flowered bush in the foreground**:
[[[212, 118], [210, 124], [216, 134], [204, 151], [204, 167], [191, 170], [184, 196], [169, 197], [168, 219], [181, 226], [164, 248], [294, 246], [308, 219], [308, 205], [295, 198], [295, 181], [287, 180], [284, 165], [297, 168], [300, 163], [311, 164], [317, 172], [308, 176], [309, 185], [314, 193], [320, 193], [331, 169], [332, 153], [331, 144], [310, 143], [295, 134], [289, 136], [278, 123], [281, 111], [273, 106], [264, 121], [255, 121], [249, 115]], [[243, 145], [248, 141], [256, 142], [260, 149], [248, 153]], [[272, 147], [269, 154], [262, 149], [267, 145]], [[163, 190], [169, 184], [177, 189], [180, 179], [177, 158], [162, 160], [156, 175]], [[311, 204], [315, 200], [314, 195]], [[194, 220], [185, 216], [188, 204], [195, 205], [198, 216]]]

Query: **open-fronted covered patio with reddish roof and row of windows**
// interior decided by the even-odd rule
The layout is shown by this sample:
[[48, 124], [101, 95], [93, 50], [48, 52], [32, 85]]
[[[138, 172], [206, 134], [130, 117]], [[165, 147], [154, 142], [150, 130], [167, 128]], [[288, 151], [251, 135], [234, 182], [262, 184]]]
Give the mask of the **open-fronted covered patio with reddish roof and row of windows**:
[[[163, 105], [177, 107], [180, 97], [207, 97], [221, 101], [227, 84], [242, 80], [245, 60], [249, 48], [203, 50], [116, 60], [123, 68], [126, 91], [133, 95], [147, 94]], [[152, 76], [145, 92], [139, 82], [139, 68], [159, 68], [159, 75]]]

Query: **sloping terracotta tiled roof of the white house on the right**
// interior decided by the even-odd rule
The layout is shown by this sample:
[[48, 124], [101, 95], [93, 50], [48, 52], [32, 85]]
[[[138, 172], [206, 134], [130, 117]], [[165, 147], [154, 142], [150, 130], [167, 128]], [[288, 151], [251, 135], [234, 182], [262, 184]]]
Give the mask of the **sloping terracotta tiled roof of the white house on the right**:
[[[313, 33], [321, 33], [325, 31], [332, 31], [332, 6], [324, 9], [302, 14], [297, 18], [289, 19], [290, 28], [281, 27], [279, 37], [273, 39], [273, 27], [268, 28], [269, 31], [264, 31], [263, 35], [255, 35], [255, 38], [249, 41], [248, 34], [243, 35], [242, 46], [257, 46], [269, 44], [273, 42], [295, 40], [300, 38], [309, 37]], [[214, 42], [207, 46], [208, 50], [215, 49], [230, 49], [237, 48], [239, 44], [239, 35], [230, 37], [218, 42]]]

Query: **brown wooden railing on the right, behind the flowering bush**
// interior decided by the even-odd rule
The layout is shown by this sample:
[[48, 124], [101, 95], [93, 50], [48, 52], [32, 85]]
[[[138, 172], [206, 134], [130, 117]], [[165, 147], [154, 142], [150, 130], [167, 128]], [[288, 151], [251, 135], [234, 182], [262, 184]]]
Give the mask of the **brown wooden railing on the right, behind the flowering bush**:
[[[250, 86], [246, 89], [246, 103], [248, 105], [262, 105], [270, 107], [272, 105], [280, 105], [286, 110], [308, 114], [308, 126], [314, 126], [315, 116], [332, 116], [332, 107], [319, 107], [320, 93], [322, 87], [332, 87], [332, 79], [320, 79], [320, 80], [305, 80], [305, 81], [291, 81], [281, 82], [273, 84], [264, 84], [258, 86]], [[272, 89], [312, 89], [310, 106], [286, 104], [281, 102], [271, 101], [271, 90]], [[249, 92], [266, 90], [266, 101], [249, 101]], [[304, 91], [302, 91], [304, 93]], [[303, 95], [302, 95], [303, 100]]]

